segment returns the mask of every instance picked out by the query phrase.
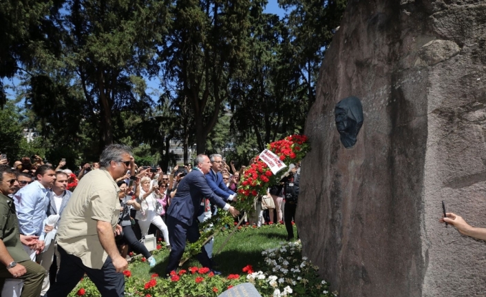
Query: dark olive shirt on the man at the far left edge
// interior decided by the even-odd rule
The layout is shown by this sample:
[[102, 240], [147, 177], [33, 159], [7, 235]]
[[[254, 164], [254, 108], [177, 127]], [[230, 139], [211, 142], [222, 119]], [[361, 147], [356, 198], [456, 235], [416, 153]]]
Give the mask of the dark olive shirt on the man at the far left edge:
[[0, 193], [0, 239], [7, 248], [8, 254], [15, 262], [30, 260], [22, 247], [19, 233], [19, 220], [12, 198]]

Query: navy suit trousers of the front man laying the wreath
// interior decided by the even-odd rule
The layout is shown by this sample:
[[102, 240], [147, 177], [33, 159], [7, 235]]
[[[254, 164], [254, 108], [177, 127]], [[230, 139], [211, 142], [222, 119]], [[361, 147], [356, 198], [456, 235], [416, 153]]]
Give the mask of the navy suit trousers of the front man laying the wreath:
[[[171, 252], [169, 254], [169, 264], [165, 269], [166, 274], [170, 274], [171, 271], [176, 270], [182, 254], [184, 254], [184, 249], [186, 248], [186, 238], [189, 243], [196, 243], [198, 241], [199, 227], [198, 220], [193, 219], [192, 225], [187, 225], [179, 221], [173, 216], [167, 216], [167, 229], [169, 229], [169, 241], [171, 242]], [[208, 257], [206, 249], [202, 247], [201, 252], [196, 256], [202, 267], [208, 267], [212, 269], [211, 260]]]

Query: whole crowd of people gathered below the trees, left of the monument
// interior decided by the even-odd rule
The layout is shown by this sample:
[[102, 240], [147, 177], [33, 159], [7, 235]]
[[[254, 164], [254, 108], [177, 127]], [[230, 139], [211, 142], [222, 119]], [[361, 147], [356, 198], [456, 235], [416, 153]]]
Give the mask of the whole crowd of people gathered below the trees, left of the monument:
[[[142, 254], [149, 267], [156, 265], [140, 242], [147, 234], [160, 236], [170, 249], [170, 274], [186, 240], [198, 240], [199, 222], [215, 215], [217, 207], [235, 220], [240, 214], [231, 201], [237, 199], [245, 167], [236, 170], [219, 154], [199, 155], [194, 168], [176, 165], [169, 174], [160, 167], [138, 167], [124, 145], [108, 146], [99, 162], [83, 164], [77, 176], [64, 168], [64, 159], [55, 168], [39, 156], [11, 165], [0, 160], [0, 261], [6, 267], [0, 268], [0, 291], [12, 291], [12, 296], [17, 287], [4, 285], [8, 279], [21, 280], [20, 296], [67, 296], [84, 274], [102, 296], [123, 296], [120, 272], [127, 268], [129, 252]], [[288, 239], [293, 238], [298, 176], [293, 166], [279, 185], [268, 189], [276, 206], [257, 207], [251, 223], [260, 227], [284, 220], [290, 227]], [[220, 274], [214, 269], [212, 245], [211, 240], [197, 258]]]

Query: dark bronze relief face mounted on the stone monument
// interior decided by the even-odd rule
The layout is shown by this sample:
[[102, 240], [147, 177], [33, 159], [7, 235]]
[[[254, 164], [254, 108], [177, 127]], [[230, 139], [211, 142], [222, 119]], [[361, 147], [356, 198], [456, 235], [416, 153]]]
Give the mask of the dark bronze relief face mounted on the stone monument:
[[355, 146], [361, 125], [363, 125], [363, 106], [357, 97], [348, 97], [336, 104], [334, 114], [336, 117], [337, 132], [341, 143], [346, 148]]

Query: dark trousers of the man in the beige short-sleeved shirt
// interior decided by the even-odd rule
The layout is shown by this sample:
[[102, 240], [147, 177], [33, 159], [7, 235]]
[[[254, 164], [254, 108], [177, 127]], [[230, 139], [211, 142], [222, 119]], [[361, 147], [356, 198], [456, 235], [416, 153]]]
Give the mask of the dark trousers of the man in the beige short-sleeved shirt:
[[45, 296], [66, 297], [76, 287], [79, 280], [86, 273], [90, 280], [96, 285], [103, 297], [120, 297], [125, 292], [125, 277], [116, 272], [112, 258], [108, 256], [101, 269], [86, 267], [80, 258], [67, 254], [58, 245], [61, 254], [61, 267], [56, 277], [56, 283], [51, 284]]

